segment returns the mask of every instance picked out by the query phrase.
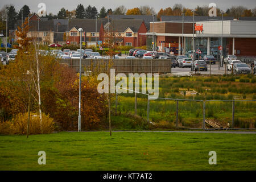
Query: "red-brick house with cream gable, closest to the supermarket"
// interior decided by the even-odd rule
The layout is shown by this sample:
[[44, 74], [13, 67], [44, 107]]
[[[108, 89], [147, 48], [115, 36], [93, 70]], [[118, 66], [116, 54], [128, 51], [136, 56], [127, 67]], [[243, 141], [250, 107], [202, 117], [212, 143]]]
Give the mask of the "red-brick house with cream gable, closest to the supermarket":
[[140, 47], [146, 45], [147, 27], [143, 19], [112, 19], [101, 25], [101, 39], [104, 41], [105, 36], [116, 34], [116, 46], [133, 46]]

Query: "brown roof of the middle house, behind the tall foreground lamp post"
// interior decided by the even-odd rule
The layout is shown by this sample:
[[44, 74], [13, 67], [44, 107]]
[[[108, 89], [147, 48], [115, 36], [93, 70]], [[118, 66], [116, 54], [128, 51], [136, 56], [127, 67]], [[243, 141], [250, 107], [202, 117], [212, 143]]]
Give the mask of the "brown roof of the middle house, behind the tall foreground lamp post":
[[[97, 19], [97, 32], [100, 32], [101, 23], [105, 25], [108, 22], [106, 18]], [[96, 20], [95, 19], [72, 19], [69, 20], [69, 30], [72, 27], [82, 28], [86, 32], [95, 32], [96, 29]]]

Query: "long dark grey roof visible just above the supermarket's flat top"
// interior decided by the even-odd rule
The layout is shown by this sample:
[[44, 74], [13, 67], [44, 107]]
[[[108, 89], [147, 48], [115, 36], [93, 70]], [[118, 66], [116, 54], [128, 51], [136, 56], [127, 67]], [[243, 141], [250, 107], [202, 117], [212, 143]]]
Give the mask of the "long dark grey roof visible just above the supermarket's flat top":
[[[233, 16], [223, 16], [223, 20], [233, 20]], [[195, 22], [221, 20], [221, 16], [194, 16]], [[162, 22], [182, 22], [182, 16], [161, 16]], [[184, 16], [184, 22], [192, 22], [193, 16]]]

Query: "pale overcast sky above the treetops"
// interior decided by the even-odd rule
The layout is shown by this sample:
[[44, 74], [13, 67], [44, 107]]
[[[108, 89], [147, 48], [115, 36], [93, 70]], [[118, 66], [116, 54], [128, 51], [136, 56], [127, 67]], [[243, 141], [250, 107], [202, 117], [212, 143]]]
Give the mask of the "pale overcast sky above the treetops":
[[161, 8], [174, 6], [175, 3], [181, 3], [183, 6], [188, 7], [190, 9], [195, 8], [197, 5], [208, 6], [209, 3], [212, 2], [216, 3], [217, 7], [222, 10], [226, 10], [228, 7], [232, 7], [233, 5], [242, 5], [247, 7], [248, 9], [253, 9], [254, 7], [256, 7], [256, 0], [1, 0], [0, 8], [2, 8], [4, 5], [13, 4], [16, 11], [18, 11], [23, 5], [28, 5], [30, 7], [31, 12], [37, 13], [39, 10], [38, 4], [40, 2], [46, 4], [47, 14], [57, 14], [62, 7], [68, 9], [69, 11], [76, 9], [76, 6], [79, 3], [81, 3], [85, 7], [88, 5], [96, 6], [98, 11], [100, 11], [102, 6], [104, 6], [106, 9], [111, 8], [112, 10], [114, 10], [115, 7], [119, 5], [124, 5], [127, 9], [148, 5], [154, 7], [156, 13], [158, 13], [158, 11]]

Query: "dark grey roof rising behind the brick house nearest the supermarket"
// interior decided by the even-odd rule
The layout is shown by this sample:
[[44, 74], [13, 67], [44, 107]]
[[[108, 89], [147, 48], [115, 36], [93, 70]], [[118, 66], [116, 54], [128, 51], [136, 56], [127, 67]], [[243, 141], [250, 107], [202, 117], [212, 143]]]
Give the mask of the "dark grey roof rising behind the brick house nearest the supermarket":
[[[152, 15], [109, 15], [110, 19], [143, 19], [147, 30], [150, 30], [150, 22], [153, 21], [153, 16]], [[157, 18], [154, 16], [154, 20], [156, 21]]]

